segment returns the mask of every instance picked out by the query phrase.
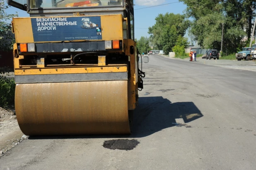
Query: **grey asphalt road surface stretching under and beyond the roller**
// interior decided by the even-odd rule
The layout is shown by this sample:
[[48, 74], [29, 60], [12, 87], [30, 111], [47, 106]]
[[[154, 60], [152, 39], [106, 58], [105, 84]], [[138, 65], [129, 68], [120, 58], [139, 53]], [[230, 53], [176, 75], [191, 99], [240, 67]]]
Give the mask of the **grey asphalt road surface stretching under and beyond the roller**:
[[[143, 71], [132, 135], [29, 137], [0, 169], [255, 170], [256, 72], [157, 55]], [[104, 148], [111, 139], [140, 144]]]

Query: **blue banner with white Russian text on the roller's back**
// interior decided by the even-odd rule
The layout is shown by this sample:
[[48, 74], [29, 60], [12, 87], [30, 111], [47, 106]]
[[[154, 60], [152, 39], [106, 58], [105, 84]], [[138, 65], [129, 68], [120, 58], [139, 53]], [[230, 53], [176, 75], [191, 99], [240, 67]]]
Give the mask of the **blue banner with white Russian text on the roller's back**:
[[31, 24], [35, 42], [102, 40], [100, 17], [31, 18]]

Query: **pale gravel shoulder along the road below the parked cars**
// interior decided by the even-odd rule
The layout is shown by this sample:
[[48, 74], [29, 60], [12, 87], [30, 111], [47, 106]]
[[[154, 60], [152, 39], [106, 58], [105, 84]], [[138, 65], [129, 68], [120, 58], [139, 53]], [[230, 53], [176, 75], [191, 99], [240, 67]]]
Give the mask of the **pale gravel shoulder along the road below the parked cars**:
[[[161, 55], [162, 57], [166, 57], [164, 55]], [[186, 62], [189, 61], [189, 57], [185, 59], [180, 59], [180, 58], [171, 58], [171, 57], [166, 57], [169, 59], [173, 60], [183, 60]], [[242, 70], [249, 70], [249, 71], [254, 71], [256, 72], [256, 62], [251, 60], [251, 61], [237, 61], [237, 60], [206, 60], [202, 59], [202, 57], [197, 57], [195, 63], [201, 63], [205, 65], [215, 65], [219, 67], [225, 67], [225, 68], [231, 68], [231, 69], [242, 69]]]

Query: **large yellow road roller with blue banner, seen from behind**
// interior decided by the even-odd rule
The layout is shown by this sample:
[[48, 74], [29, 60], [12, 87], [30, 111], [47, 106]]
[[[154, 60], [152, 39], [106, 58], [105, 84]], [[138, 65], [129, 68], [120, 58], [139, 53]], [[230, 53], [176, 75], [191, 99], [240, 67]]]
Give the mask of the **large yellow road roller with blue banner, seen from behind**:
[[130, 134], [145, 77], [134, 41], [133, 0], [8, 4], [29, 14], [12, 19], [22, 132]]

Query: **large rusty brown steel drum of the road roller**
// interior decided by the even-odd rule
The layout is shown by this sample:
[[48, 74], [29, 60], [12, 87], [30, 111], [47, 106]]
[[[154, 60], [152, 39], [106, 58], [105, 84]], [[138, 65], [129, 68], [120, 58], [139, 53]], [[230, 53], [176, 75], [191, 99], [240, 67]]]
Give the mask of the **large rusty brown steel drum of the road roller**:
[[19, 127], [29, 136], [130, 134], [126, 81], [17, 84]]

